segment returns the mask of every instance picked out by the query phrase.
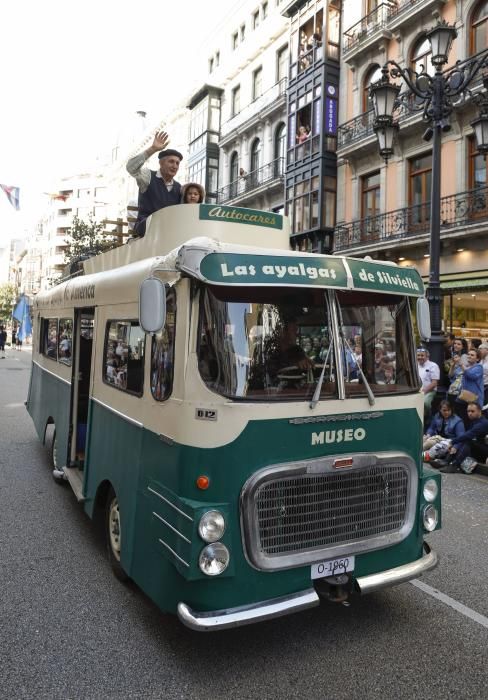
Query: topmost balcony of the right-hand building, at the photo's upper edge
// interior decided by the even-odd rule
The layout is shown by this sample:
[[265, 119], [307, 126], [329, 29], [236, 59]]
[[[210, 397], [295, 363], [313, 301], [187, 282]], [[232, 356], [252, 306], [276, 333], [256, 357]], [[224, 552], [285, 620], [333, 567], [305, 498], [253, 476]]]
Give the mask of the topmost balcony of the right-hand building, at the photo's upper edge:
[[378, 41], [391, 39], [405, 24], [411, 25], [417, 16], [432, 12], [444, 2], [446, 0], [390, 0], [380, 3], [344, 32], [344, 60], [355, 63]]

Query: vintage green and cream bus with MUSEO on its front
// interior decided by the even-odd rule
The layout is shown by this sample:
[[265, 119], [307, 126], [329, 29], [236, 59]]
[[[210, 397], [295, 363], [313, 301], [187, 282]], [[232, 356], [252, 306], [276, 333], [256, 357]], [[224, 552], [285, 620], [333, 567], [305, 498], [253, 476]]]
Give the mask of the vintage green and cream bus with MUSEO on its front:
[[35, 300], [27, 406], [119, 578], [211, 630], [436, 565], [415, 269], [292, 252], [284, 217], [205, 204], [83, 266]]

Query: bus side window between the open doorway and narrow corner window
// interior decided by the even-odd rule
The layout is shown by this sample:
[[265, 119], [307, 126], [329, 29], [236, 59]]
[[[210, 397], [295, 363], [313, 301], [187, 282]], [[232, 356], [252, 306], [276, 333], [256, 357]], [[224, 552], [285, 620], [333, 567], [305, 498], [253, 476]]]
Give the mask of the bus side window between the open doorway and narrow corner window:
[[105, 334], [105, 383], [142, 396], [145, 334], [137, 321], [108, 321]]

